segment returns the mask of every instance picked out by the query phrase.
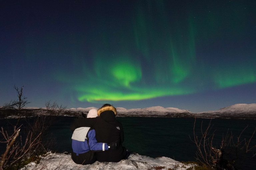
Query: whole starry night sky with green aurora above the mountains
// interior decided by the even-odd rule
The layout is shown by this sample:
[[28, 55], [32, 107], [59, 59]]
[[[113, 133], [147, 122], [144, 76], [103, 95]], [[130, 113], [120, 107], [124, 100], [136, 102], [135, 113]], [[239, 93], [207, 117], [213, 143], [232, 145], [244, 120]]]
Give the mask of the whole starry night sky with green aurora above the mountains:
[[0, 105], [256, 103], [256, 1], [3, 1]]

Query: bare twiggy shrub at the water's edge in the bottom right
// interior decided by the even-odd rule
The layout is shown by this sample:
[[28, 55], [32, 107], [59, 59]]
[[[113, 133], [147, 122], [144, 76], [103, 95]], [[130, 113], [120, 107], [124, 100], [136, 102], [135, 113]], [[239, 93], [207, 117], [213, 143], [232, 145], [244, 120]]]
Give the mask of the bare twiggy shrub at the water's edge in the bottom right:
[[225, 136], [223, 135], [222, 141], [217, 147], [213, 144], [215, 130], [211, 132], [211, 121], [205, 130], [202, 128], [202, 122], [200, 136], [195, 134], [195, 123], [196, 119], [194, 122], [194, 139], [191, 139], [190, 136], [189, 137], [197, 146], [196, 159], [199, 161], [199, 163], [207, 166], [209, 169], [236, 169], [237, 166], [242, 164], [246, 158], [247, 153], [256, 147], [256, 145], [250, 145], [250, 141], [255, 133], [256, 128], [249, 140], [240, 139], [242, 133], [248, 126], [243, 129], [243, 131], [237, 137], [237, 140], [232, 135], [232, 132], [227, 131], [227, 134]]

